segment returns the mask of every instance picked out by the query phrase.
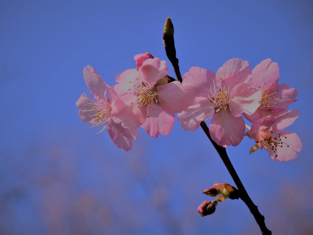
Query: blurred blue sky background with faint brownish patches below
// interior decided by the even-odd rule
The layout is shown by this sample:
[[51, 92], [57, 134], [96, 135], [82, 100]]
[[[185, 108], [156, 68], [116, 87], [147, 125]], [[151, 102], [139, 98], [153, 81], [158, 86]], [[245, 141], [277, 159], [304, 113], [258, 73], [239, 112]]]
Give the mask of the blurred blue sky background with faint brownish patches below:
[[233, 184], [201, 129], [184, 131], [176, 120], [157, 139], [139, 129], [125, 152], [78, 117], [76, 100], [90, 95], [83, 68], [112, 86], [135, 68], [135, 54], [167, 60], [167, 17], [182, 74], [217, 71], [231, 58], [253, 69], [271, 58], [280, 83], [298, 91], [290, 109], [302, 114], [287, 128], [303, 142], [297, 159], [249, 156], [246, 138], [227, 151], [273, 234], [313, 233], [311, 0], [1, 0], [1, 234], [260, 234], [241, 200], [198, 214], [209, 200], [203, 189]]

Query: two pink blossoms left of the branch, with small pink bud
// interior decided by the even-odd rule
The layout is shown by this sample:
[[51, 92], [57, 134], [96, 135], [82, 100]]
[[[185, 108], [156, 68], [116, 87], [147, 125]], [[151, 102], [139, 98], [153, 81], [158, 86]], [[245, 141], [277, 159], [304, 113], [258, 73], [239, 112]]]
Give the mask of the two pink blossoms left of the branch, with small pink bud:
[[138, 54], [134, 60], [137, 68], [118, 74], [113, 87], [87, 66], [83, 75], [94, 101], [82, 94], [76, 102], [79, 117], [92, 124], [90, 128], [107, 129], [114, 144], [126, 151], [137, 139], [139, 126], [154, 138], [160, 133], [167, 136], [175, 114], [186, 110], [195, 98], [191, 86], [169, 82], [166, 61], [150, 53]]

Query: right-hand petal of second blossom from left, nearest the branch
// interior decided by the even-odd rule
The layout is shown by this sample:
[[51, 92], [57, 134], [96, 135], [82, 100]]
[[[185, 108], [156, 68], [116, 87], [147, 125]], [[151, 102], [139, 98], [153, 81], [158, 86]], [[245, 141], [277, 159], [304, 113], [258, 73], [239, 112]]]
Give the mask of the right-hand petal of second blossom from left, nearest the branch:
[[169, 113], [179, 113], [189, 107], [195, 99], [194, 88], [183, 86], [179, 81], [157, 86], [159, 105]]

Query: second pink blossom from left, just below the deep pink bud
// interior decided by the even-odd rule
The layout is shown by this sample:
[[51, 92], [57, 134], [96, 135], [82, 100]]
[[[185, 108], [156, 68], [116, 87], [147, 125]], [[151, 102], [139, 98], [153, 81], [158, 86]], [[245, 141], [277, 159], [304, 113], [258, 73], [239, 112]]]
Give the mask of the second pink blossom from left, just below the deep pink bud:
[[180, 82], [168, 83], [166, 61], [150, 58], [138, 71], [127, 70], [116, 76], [114, 90], [120, 96], [112, 119], [123, 127], [142, 128], [152, 137], [171, 131], [175, 113], [185, 110], [194, 100], [193, 88]]

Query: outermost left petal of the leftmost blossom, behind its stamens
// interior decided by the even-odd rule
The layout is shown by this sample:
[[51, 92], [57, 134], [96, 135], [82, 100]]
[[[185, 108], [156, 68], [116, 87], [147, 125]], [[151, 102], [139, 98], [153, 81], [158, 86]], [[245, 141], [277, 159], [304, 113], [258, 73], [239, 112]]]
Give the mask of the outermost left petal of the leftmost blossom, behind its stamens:
[[78, 111], [78, 115], [80, 119], [82, 119], [86, 123], [96, 124], [97, 121], [95, 118], [91, 120], [91, 117], [94, 116], [94, 110], [90, 108], [90, 104], [92, 103], [93, 101], [89, 99], [87, 95], [84, 93], [77, 100], [76, 106], [77, 108], [80, 109]]

